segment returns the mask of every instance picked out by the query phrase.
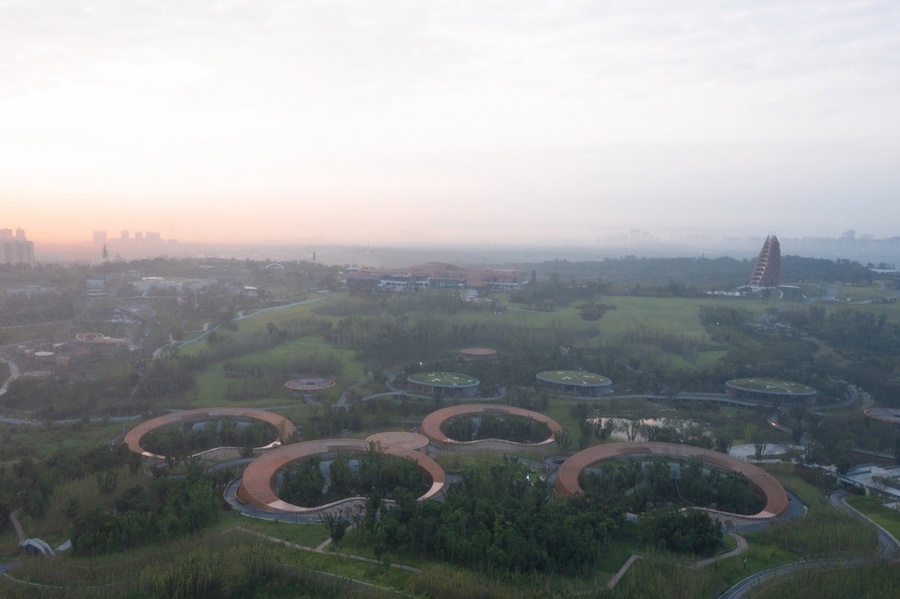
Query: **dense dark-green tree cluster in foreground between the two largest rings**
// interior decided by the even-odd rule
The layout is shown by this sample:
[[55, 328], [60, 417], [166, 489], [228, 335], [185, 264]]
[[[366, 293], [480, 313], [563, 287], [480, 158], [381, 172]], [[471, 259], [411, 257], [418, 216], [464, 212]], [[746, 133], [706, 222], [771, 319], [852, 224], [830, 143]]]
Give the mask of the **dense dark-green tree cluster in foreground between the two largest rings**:
[[467, 471], [444, 501], [398, 493], [396, 506], [378, 516], [370, 510], [355, 533], [376, 552], [414, 552], [495, 574], [587, 571], [623, 523], [617, 511], [552, 497], [545, 482], [508, 460]]

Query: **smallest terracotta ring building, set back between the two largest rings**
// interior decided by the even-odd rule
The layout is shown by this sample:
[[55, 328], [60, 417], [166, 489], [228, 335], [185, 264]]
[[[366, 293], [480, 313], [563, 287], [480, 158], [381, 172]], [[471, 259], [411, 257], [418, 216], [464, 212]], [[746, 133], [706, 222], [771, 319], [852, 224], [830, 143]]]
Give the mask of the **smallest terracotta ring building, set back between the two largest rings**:
[[[548, 436], [538, 443], [517, 443], [506, 439], [479, 439], [476, 441], [460, 441], [444, 433], [444, 423], [461, 416], [477, 416], [480, 414], [501, 414], [529, 418], [547, 426]], [[522, 449], [551, 449], [556, 435], [563, 428], [554, 419], [539, 412], [524, 408], [494, 404], [464, 404], [435, 410], [425, 417], [419, 432], [436, 446], [444, 449], [493, 449], [497, 451], [518, 451]]]

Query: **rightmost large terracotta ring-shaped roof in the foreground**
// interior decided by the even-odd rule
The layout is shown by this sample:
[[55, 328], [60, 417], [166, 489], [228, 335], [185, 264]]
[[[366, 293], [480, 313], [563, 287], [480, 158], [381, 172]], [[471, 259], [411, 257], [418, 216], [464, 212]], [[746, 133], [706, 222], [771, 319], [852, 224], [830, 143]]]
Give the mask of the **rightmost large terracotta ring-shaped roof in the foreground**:
[[788, 509], [788, 496], [784, 487], [768, 472], [753, 464], [718, 451], [675, 443], [607, 443], [605, 445], [588, 447], [563, 462], [559, 467], [553, 486], [557, 491], [566, 495], [581, 494], [583, 490], [579, 479], [585, 468], [603, 460], [637, 456], [662, 457], [674, 460], [696, 458], [707, 466], [738, 472], [747, 477], [750, 486], [765, 501], [763, 509], [756, 514], [733, 514], [721, 510], [706, 509], [706, 511], [713, 514], [721, 514], [729, 518], [768, 520], [784, 514]]

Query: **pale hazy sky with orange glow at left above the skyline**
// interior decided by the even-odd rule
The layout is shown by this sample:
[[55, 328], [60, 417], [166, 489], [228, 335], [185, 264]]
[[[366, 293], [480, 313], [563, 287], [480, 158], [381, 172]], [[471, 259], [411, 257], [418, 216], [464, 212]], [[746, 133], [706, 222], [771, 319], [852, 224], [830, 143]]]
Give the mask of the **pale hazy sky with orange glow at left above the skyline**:
[[900, 2], [0, 0], [0, 228], [900, 234]]

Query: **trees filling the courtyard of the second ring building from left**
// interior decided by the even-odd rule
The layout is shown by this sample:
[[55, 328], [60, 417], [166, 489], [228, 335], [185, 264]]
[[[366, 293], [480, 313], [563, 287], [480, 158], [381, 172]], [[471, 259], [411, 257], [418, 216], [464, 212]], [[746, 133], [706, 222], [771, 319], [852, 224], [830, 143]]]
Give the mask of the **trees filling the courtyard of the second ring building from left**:
[[358, 467], [350, 465], [350, 455], [339, 452], [323, 474], [316, 458], [301, 460], [283, 473], [278, 497], [288, 503], [317, 506], [346, 497], [376, 495], [393, 499], [397, 489], [418, 496], [425, 490], [422, 470], [413, 460], [388, 456], [370, 448], [359, 457]]

